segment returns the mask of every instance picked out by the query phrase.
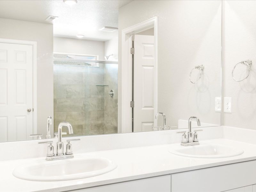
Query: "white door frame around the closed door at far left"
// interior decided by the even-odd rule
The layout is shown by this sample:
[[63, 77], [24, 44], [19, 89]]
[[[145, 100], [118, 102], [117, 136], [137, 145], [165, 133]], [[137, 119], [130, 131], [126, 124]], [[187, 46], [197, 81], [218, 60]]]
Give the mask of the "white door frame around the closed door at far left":
[[37, 133], [37, 42], [0, 38], [0, 43], [32, 45], [33, 62], [33, 134]]

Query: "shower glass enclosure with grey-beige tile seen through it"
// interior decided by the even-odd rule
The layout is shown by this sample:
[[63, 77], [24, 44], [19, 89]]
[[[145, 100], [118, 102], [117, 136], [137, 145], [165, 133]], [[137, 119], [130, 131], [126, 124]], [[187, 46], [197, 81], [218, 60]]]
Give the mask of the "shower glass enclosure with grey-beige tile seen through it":
[[117, 133], [118, 65], [86, 57], [54, 54], [54, 132], [67, 121], [72, 136]]

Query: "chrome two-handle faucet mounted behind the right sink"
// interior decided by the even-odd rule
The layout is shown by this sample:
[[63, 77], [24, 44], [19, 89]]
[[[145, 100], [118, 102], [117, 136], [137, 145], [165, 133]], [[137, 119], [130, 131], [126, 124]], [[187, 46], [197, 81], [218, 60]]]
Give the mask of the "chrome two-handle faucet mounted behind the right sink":
[[195, 130], [194, 134], [191, 132], [191, 120], [195, 119], [197, 122], [198, 126], [201, 126], [201, 122], [200, 119], [198, 119], [197, 117], [191, 116], [188, 119], [188, 134], [186, 135], [186, 131], [182, 131], [182, 132], [177, 132], [177, 133], [183, 133], [182, 134], [182, 139], [181, 139], [181, 143], [180, 145], [183, 146], [191, 146], [191, 145], [199, 145], [198, 142], [198, 137], [197, 137], [197, 131], [203, 131], [203, 130]]

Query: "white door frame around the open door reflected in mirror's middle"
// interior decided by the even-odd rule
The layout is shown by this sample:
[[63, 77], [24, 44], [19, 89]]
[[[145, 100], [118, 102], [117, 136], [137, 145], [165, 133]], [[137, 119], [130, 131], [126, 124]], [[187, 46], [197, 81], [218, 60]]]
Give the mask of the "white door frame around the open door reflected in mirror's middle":
[[[130, 101], [132, 101], [132, 54], [130, 54], [130, 48], [132, 47], [132, 35], [141, 31], [154, 27], [154, 76], [156, 78], [154, 84], [154, 113], [157, 113], [157, 60], [158, 60], [158, 18], [153, 17], [151, 19], [140, 22], [131, 27], [122, 30], [122, 105], [121, 105], [121, 129], [118, 128], [118, 133], [132, 132], [132, 110], [130, 107]], [[154, 124], [156, 120], [154, 119]]]

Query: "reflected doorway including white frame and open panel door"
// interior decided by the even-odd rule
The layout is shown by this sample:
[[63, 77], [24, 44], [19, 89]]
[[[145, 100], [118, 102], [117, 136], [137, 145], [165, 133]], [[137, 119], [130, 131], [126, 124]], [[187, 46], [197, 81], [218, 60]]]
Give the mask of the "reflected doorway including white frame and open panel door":
[[122, 30], [122, 132], [152, 131], [157, 112], [157, 17]]

